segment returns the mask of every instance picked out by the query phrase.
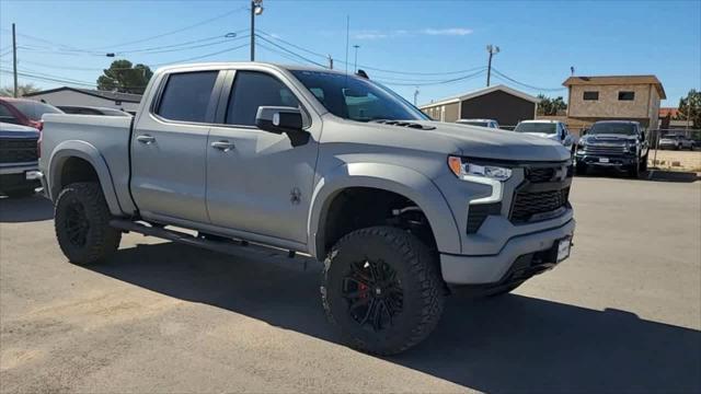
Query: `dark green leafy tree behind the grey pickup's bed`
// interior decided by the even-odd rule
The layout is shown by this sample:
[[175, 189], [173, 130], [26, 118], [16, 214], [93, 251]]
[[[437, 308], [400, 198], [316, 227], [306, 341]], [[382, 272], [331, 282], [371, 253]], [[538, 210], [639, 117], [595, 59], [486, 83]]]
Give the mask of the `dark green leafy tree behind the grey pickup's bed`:
[[153, 72], [146, 65], [133, 66], [129, 60], [115, 60], [97, 78], [97, 89], [143, 94], [151, 76]]

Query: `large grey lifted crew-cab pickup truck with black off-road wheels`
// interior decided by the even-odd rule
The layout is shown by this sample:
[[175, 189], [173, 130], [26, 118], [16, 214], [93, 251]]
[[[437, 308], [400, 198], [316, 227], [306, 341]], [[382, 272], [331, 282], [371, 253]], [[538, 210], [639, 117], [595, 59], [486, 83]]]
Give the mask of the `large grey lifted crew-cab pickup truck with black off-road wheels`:
[[43, 183], [69, 260], [105, 259], [125, 231], [308, 254], [323, 262], [327, 316], [364, 351], [420, 343], [453, 287], [507, 292], [570, 254], [561, 143], [432, 121], [364, 78], [166, 67], [134, 120], [44, 120]]

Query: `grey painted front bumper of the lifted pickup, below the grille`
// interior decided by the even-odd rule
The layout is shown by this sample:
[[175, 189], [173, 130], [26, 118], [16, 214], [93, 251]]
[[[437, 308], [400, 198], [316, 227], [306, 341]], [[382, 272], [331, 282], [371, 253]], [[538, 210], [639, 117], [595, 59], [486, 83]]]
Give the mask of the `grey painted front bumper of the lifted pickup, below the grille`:
[[[550, 257], [549, 251], [556, 247], [556, 242], [574, 235], [574, 219], [564, 225], [518, 235], [509, 239], [504, 247], [494, 255], [440, 255], [440, 270], [444, 280], [448, 285], [487, 285], [499, 283], [506, 279], [516, 264], [538, 264], [532, 267], [532, 273], [538, 274], [543, 269], [552, 268], [558, 262], [544, 262], [532, 258], [532, 254]], [[543, 253], [545, 252], [545, 253]], [[545, 259], [549, 259], [545, 257]], [[528, 269], [525, 267], [524, 269]], [[519, 268], [520, 269], [520, 268]]]

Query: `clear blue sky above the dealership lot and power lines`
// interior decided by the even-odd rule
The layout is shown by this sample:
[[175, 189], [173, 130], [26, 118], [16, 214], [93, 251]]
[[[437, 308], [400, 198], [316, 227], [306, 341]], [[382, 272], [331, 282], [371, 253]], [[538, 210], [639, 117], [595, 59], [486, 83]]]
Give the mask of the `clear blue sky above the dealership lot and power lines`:
[[[77, 86], [94, 83], [114, 60], [101, 55], [106, 51], [160, 65], [240, 47], [198, 61], [248, 60], [248, 1], [0, 0], [0, 70], [12, 68], [7, 53], [13, 22], [20, 34], [20, 72], [44, 78], [20, 81], [41, 88], [70, 84], [59, 82], [66, 80]], [[533, 95], [566, 99], [561, 84], [570, 67], [578, 76], [656, 74], [667, 92], [666, 106], [676, 106], [690, 89], [701, 88], [701, 1], [263, 0], [263, 7], [256, 18], [260, 34], [315, 62], [326, 60], [314, 54], [331, 54], [336, 69], [345, 68], [349, 16], [350, 69], [353, 45], [359, 45], [360, 68], [387, 70], [368, 69], [371, 79], [384, 81], [409, 100], [421, 84], [420, 103], [483, 88], [487, 44], [501, 48], [494, 69], [532, 88], [494, 74], [492, 83]], [[226, 13], [230, 14], [218, 18]], [[223, 37], [230, 32], [238, 32], [238, 38]], [[158, 35], [162, 36], [147, 39]], [[294, 55], [260, 43], [267, 48], [257, 48], [256, 60], [292, 62], [280, 53]], [[458, 80], [446, 82], [453, 79]], [[11, 74], [0, 73], [0, 85], [11, 83]]]

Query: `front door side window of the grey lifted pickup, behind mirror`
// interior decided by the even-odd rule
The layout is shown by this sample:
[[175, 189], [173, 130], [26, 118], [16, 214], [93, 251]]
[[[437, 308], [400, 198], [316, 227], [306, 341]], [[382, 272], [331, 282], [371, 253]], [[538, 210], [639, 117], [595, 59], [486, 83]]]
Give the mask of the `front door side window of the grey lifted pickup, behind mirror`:
[[255, 126], [260, 106], [299, 107], [299, 102], [283, 82], [271, 74], [237, 71], [225, 121], [228, 125]]

